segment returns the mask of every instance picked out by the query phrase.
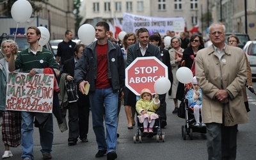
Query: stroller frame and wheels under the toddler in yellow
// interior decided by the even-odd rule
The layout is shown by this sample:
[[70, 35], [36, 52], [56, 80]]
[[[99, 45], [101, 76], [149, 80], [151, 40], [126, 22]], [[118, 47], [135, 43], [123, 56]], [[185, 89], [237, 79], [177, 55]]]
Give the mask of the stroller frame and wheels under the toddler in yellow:
[[[137, 113], [137, 115], [138, 115], [138, 113]], [[141, 143], [142, 138], [146, 138], [146, 137], [147, 138], [152, 138], [153, 136], [156, 136], [156, 141], [157, 142], [159, 142], [159, 141], [164, 142], [164, 132], [162, 132], [162, 130], [161, 130], [160, 118], [157, 118], [156, 122], [154, 124], [154, 127], [153, 127], [154, 134], [153, 134], [153, 136], [143, 135], [142, 133], [143, 133], [144, 127], [143, 127], [143, 124], [140, 123], [138, 116], [136, 116], [136, 121], [137, 121], [137, 123], [136, 123], [136, 134], [135, 134], [135, 136], [133, 136], [134, 143], [137, 143], [138, 141], [140, 141], [140, 143]]]

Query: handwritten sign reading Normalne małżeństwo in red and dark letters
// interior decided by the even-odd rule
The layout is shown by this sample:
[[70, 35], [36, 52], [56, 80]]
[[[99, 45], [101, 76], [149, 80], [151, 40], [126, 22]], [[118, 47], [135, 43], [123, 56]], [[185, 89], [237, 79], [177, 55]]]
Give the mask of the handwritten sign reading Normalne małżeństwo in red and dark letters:
[[6, 81], [6, 109], [52, 113], [53, 74], [10, 73]]

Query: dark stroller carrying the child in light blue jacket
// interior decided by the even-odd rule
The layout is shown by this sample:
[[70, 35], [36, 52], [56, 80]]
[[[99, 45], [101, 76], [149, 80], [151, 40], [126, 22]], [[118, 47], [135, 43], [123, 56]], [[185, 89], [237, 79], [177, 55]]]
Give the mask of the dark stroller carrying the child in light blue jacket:
[[[189, 84], [186, 84], [185, 87], [185, 93], [188, 92], [190, 89]], [[188, 99], [184, 97], [184, 99], [181, 102], [180, 109], [184, 111], [184, 116], [181, 118], [185, 118], [185, 125], [181, 126], [181, 133], [183, 140], [186, 140], [186, 136], [188, 135], [190, 140], [193, 140], [193, 132], [200, 132], [200, 133], [206, 133], [206, 127], [200, 125], [199, 127], [196, 127], [196, 121], [194, 117], [194, 111], [192, 108], [189, 108]], [[183, 109], [182, 109], [183, 108]], [[200, 112], [200, 120], [202, 120], [201, 112]]]

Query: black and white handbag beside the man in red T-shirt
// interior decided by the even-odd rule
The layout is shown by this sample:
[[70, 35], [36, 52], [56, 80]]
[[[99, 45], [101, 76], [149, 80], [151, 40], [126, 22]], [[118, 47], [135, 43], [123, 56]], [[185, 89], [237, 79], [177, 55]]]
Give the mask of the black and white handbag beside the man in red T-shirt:
[[76, 83], [74, 83], [74, 80], [65, 80], [65, 86], [67, 91], [68, 102], [76, 102], [79, 99], [79, 97], [77, 94], [77, 85]]

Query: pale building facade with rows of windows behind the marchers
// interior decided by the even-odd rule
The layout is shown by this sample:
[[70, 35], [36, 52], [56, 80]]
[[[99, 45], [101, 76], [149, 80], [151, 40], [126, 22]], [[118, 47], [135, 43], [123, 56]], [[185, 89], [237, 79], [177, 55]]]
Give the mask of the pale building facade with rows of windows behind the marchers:
[[[202, 14], [207, 12], [203, 0], [83, 0], [80, 8], [82, 24], [95, 24], [99, 20], [110, 21], [117, 17], [122, 21], [123, 12], [149, 17], [183, 17], [186, 29], [200, 24]], [[204, 32], [200, 28], [200, 32]]]

